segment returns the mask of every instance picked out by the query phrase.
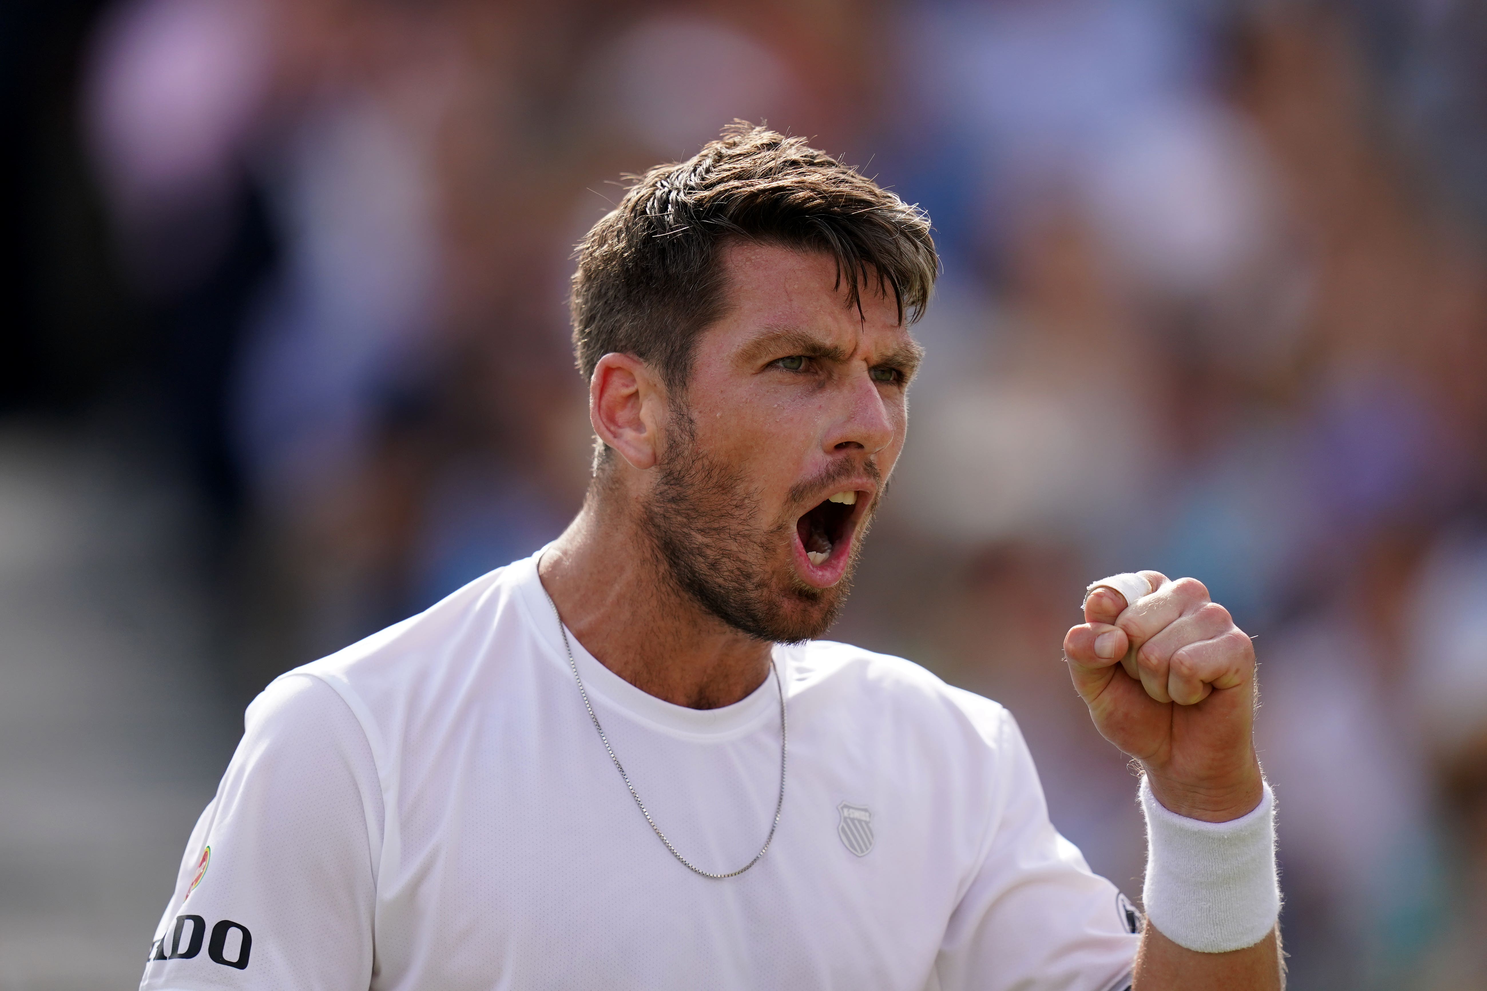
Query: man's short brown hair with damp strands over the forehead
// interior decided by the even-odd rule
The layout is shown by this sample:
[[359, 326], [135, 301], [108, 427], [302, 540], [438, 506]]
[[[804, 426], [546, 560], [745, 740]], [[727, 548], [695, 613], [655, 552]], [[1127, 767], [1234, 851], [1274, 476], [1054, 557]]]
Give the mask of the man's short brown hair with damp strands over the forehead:
[[587, 379], [630, 354], [684, 389], [697, 333], [723, 311], [721, 247], [752, 239], [836, 259], [848, 305], [892, 290], [898, 319], [923, 315], [940, 273], [929, 218], [803, 138], [742, 120], [681, 163], [657, 165], [578, 245], [572, 340]]

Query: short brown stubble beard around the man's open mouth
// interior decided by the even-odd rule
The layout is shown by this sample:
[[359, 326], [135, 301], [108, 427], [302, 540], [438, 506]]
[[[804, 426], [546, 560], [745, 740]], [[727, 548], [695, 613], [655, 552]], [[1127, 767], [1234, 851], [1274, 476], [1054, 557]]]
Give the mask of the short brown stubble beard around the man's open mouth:
[[699, 447], [684, 409], [671, 417], [666, 453], [656, 471], [641, 529], [677, 591], [735, 630], [769, 643], [812, 640], [836, 623], [871, 513], [852, 539], [842, 581], [815, 588], [796, 574], [791, 541], [796, 519], [810, 508], [797, 505], [800, 498], [819, 492], [825, 480], [797, 486], [784, 516], [760, 527], [754, 523], [760, 517], [758, 490], [739, 468]]

